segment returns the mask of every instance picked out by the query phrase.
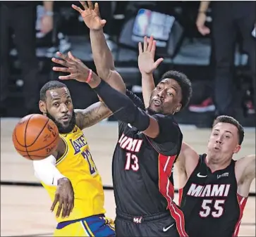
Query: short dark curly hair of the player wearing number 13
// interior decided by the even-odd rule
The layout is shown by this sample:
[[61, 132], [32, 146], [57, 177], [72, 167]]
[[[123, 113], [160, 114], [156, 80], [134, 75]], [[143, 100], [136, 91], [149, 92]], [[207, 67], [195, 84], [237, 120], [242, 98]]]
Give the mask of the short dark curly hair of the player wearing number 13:
[[164, 75], [162, 75], [161, 80], [166, 78], [175, 79], [180, 85], [182, 93], [181, 104], [182, 107], [185, 108], [192, 96], [192, 85], [190, 79], [188, 79], [184, 73], [173, 70], [165, 72]]

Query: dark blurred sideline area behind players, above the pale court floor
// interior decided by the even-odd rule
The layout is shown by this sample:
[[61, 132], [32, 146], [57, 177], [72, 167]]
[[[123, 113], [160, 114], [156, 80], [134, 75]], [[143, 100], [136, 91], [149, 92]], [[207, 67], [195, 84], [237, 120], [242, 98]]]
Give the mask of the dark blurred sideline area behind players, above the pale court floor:
[[[51, 70], [56, 51], [72, 51], [95, 70], [89, 30], [71, 4], [79, 2], [0, 2], [1, 117], [39, 113], [39, 89], [59, 76]], [[190, 105], [176, 115], [180, 124], [210, 127], [225, 114], [255, 127], [255, 1], [100, 1], [99, 7], [116, 70], [135, 94], [142, 96], [138, 41], [153, 35], [156, 57], [164, 57], [156, 82], [166, 70], [180, 70], [193, 84]], [[65, 83], [75, 108], [97, 101], [86, 84]]]

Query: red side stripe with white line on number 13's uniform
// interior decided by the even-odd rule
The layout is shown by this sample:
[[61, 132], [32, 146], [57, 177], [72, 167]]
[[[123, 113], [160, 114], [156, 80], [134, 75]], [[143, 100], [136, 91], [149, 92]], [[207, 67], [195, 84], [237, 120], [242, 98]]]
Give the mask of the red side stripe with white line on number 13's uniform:
[[173, 167], [173, 162], [176, 158], [176, 155], [165, 156], [159, 154], [158, 157], [158, 171], [159, 171], [159, 191], [164, 198], [167, 200], [167, 207], [171, 212], [171, 216], [176, 221], [176, 227], [178, 233], [182, 237], [188, 236], [185, 232], [185, 219], [183, 212], [173, 203], [174, 197], [174, 188], [171, 184], [169, 177], [171, 177], [171, 169]]

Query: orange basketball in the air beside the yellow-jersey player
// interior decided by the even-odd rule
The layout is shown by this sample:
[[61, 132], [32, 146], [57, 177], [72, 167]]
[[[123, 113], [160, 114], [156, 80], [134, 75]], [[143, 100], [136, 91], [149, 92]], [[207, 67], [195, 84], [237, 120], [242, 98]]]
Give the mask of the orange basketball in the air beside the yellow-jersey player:
[[28, 160], [42, 160], [54, 153], [59, 131], [49, 117], [32, 114], [23, 117], [13, 130], [13, 145]]

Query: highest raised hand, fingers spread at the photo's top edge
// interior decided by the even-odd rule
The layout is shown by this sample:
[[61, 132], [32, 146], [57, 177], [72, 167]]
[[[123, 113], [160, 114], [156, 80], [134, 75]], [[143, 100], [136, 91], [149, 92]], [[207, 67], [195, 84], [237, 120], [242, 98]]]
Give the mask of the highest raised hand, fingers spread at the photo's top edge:
[[100, 18], [99, 4], [95, 3], [95, 6], [93, 6], [92, 1], [87, 1], [87, 4], [85, 1], [80, 1], [80, 4], [82, 4], [85, 10], [81, 9], [79, 6], [75, 6], [74, 4], [72, 4], [72, 8], [80, 13], [85, 25], [87, 25], [90, 30], [102, 29], [106, 24], [106, 20], [102, 20], [102, 18]]

